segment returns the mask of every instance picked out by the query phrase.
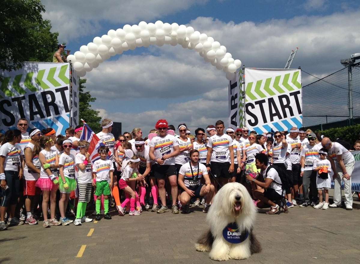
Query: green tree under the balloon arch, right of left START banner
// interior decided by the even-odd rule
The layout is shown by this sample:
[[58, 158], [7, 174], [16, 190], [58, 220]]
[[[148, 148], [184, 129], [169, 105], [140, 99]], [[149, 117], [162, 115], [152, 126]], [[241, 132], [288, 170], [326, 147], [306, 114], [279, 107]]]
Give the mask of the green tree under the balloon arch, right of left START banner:
[[101, 131], [100, 120], [102, 117], [99, 117], [99, 111], [91, 109], [91, 104], [96, 100], [95, 97], [90, 95], [90, 92], [84, 92], [86, 79], [80, 79], [79, 85], [79, 117], [84, 119], [84, 121], [90, 126], [95, 133]]

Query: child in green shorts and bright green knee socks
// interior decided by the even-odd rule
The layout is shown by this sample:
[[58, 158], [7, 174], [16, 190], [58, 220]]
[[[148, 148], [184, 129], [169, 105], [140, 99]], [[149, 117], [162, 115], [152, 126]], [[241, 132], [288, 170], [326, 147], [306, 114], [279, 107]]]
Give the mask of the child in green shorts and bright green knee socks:
[[101, 219], [100, 206], [102, 195], [104, 195], [104, 218], [111, 219], [111, 215], [109, 214], [109, 196], [111, 193], [110, 188], [113, 186], [114, 165], [111, 160], [106, 158], [108, 152], [108, 147], [99, 147], [98, 153], [100, 155], [100, 159], [96, 160], [93, 165], [93, 186], [96, 186], [94, 195], [97, 196], [95, 202], [95, 220], [97, 221]]

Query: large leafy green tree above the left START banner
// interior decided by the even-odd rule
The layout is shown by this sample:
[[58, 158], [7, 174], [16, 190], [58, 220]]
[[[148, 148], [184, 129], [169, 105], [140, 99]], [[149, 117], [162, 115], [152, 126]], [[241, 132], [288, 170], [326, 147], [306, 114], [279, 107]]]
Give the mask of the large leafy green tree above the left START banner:
[[51, 62], [58, 32], [42, 19], [40, 0], [2, 1], [0, 5], [0, 69], [15, 70], [24, 62]]

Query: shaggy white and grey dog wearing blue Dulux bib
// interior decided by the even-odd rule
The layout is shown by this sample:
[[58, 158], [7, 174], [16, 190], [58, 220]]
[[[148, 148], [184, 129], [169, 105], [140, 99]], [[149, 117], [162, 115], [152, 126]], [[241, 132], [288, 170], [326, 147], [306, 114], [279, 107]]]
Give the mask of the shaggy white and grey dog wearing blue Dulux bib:
[[[210, 229], [199, 238], [197, 251], [210, 251], [213, 260], [247, 259], [261, 251], [260, 243], [252, 233], [257, 210], [245, 186], [233, 182], [225, 184], [215, 195], [206, 222]], [[237, 223], [235, 235], [246, 237], [243, 242], [230, 243], [223, 231], [230, 223]], [[227, 229], [226, 229], [227, 231]], [[229, 233], [230, 234], [230, 233]]]

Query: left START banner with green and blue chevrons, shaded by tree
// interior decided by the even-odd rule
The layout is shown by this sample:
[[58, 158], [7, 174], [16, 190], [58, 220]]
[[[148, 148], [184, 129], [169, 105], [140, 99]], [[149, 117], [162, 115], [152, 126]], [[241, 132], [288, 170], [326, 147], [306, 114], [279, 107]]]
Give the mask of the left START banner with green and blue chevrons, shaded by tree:
[[[26, 62], [12, 72], [1, 72], [0, 132], [17, 128], [19, 118], [26, 118], [29, 129], [52, 127], [65, 135], [69, 127], [69, 63]], [[78, 112], [78, 78], [73, 91], [73, 110]], [[75, 100], [75, 101], [74, 101]], [[78, 123], [78, 113], [72, 113]], [[74, 120], [74, 119], [73, 119]]]

